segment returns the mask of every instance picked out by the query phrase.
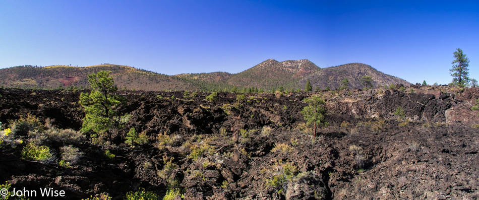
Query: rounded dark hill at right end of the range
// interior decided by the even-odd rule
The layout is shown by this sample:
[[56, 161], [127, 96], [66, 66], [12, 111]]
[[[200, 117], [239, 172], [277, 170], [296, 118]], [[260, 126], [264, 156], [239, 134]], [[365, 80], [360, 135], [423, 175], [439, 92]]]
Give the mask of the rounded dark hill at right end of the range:
[[342, 80], [347, 78], [350, 88], [363, 88], [361, 85], [361, 78], [363, 76], [371, 76], [373, 78], [373, 84], [376, 87], [390, 84], [403, 84], [405, 86], [410, 85], [409, 82], [379, 72], [370, 65], [363, 63], [348, 63], [330, 68], [324, 68], [321, 71], [310, 74], [299, 81], [297, 87], [304, 88], [307, 80], [309, 79], [313, 85], [313, 88], [319, 87], [321, 89], [325, 89], [329, 86], [331, 89], [336, 89], [337, 87], [341, 86]]

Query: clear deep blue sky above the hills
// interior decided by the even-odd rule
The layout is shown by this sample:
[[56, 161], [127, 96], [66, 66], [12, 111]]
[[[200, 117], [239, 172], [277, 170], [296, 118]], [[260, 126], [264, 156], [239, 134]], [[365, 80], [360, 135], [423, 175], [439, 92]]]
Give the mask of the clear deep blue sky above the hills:
[[0, 68], [106, 62], [175, 75], [309, 59], [447, 84], [456, 48], [479, 79], [479, 1], [0, 1]]

